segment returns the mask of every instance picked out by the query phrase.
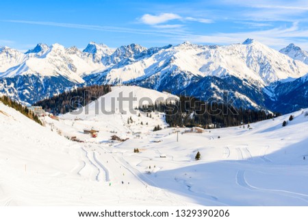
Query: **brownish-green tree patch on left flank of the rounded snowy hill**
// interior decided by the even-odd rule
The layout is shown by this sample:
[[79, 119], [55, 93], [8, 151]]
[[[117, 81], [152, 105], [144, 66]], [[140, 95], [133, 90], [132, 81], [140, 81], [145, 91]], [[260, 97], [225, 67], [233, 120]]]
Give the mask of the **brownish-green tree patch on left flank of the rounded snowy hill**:
[[71, 110], [86, 106], [91, 101], [109, 92], [111, 92], [110, 85], [94, 85], [75, 88], [74, 90], [66, 91], [60, 95], [38, 101], [34, 103], [33, 106], [42, 106], [45, 111], [53, 114], [65, 114]]

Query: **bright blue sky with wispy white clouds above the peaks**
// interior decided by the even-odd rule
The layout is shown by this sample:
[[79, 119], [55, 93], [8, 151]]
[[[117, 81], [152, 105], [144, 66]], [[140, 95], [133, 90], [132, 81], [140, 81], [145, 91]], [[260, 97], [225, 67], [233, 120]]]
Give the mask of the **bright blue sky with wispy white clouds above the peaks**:
[[229, 45], [254, 38], [275, 49], [308, 50], [308, 1], [14, 1], [0, 2], [0, 45], [23, 51], [38, 42], [84, 48]]

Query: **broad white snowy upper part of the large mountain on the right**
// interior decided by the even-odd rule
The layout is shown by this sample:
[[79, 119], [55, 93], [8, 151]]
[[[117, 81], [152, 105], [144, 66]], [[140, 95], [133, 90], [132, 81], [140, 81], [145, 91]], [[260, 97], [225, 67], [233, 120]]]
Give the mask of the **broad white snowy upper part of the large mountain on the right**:
[[[134, 46], [138, 48], [138, 45]], [[103, 71], [103, 83], [139, 80], [140, 77], [146, 81], [145, 78], [159, 77], [159, 82], [155, 82], [155, 87], [159, 88], [164, 87], [159, 83], [166, 75], [175, 77], [185, 74], [196, 77], [233, 75], [266, 86], [278, 80], [298, 78], [308, 73], [307, 65], [302, 62], [294, 61], [251, 39], [229, 46], [203, 46], [184, 42], [159, 50], [152, 56], [130, 57], [130, 63]]]

